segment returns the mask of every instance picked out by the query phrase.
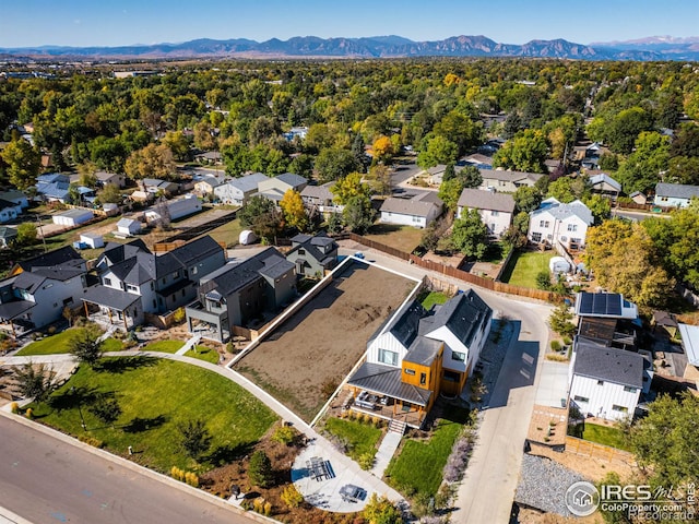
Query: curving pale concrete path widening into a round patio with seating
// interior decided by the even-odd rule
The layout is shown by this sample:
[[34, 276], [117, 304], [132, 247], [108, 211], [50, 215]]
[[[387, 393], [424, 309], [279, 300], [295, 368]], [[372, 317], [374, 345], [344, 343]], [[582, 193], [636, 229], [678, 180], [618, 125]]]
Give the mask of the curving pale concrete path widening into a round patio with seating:
[[[166, 358], [170, 360], [178, 360], [193, 366], [199, 366], [213, 371], [228, 380], [236, 382], [238, 385], [248, 390], [258, 400], [263, 402], [270, 409], [276, 413], [283, 420], [291, 422], [298, 431], [304, 433], [307, 441], [310, 443], [301, 452], [301, 454], [295, 461], [292, 467], [292, 479], [297, 484], [297, 488], [301, 495], [307, 498], [308, 502], [318, 505], [327, 511], [335, 512], [354, 512], [362, 511], [366, 505], [372, 493], [379, 496], [386, 496], [394, 502], [404, 503], [403, 497], [386, 485], [380, 478], [375, 477], [369, 472], [363, 471], [357, 463], [347, 457], [344, 453], [337, 451], [324, 437], [319, 434], [313, 428], [308, 426], [296, 414], [289, 410], [276, 398], [272, 397], [264, 390], [260, 389], [248, 379], [239, 373], [228, 369], [227, 367], [221, 367], [215, 364], [210, 364], [197, 358], [185, 357], [176, 354], [157, 353], [157, 352], [140, 352], [140, 350], [126, 350], [107, 353], [108, 357], [133, 357], [133, 356], [150, 356], [156, 358]], [[75, 358], [72, 355], [43, 355], [34, 357], [4, 357], [0, 359], [0, 365], [20, 365], [27, 361], [45, 362], [45, 364], [70, 364], [76, 366]], [[308, 468], [306, 467], [306, 461], [311, 456], [321, 456], [328, 464], [330, 464], [334, 477], [324, 481], [310, 480], [308, 475]], [[362, 488], [366, 497], [357, 502], [346, 502], [340, 496], [340, 488], [352, 484]]]

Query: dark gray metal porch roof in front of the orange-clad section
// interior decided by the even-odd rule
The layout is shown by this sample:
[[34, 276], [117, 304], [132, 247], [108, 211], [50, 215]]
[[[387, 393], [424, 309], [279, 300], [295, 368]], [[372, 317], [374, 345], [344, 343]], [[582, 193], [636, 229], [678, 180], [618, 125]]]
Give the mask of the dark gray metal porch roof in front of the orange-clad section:
[[423, 390], [401, 381], [401, 368], [380, 364], [364, 362], [347, 381], [350, 385], [362, 388], [400, 401], [426, 406], [431, 391]]

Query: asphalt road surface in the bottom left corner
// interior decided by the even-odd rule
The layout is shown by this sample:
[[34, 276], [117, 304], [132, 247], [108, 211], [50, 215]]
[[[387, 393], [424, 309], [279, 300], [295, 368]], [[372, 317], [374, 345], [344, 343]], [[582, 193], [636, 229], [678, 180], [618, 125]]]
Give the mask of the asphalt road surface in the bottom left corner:
[[34, 524], [253, 522], [216, 501], [4, 416], [0, 416], [0, 522], [14, 522], [3, 519], [2, 508]]

